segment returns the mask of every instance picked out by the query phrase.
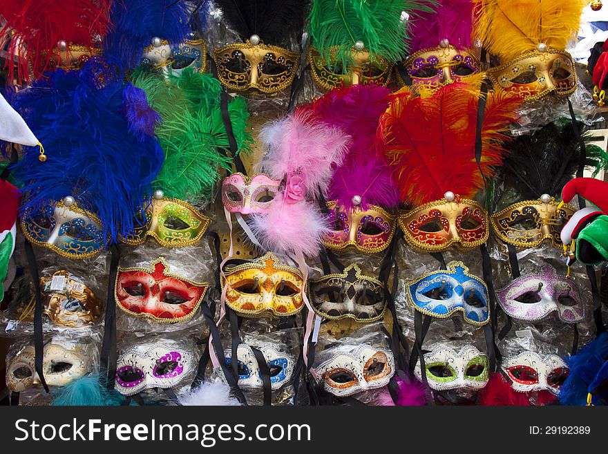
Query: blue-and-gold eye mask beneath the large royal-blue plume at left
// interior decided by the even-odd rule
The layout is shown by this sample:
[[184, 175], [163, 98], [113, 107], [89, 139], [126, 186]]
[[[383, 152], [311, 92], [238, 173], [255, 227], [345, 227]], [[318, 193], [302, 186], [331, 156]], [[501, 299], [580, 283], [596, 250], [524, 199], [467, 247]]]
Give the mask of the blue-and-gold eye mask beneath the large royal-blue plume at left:
[[106, 246], [99, 218], [63, 202], [27, 212], [21, 229], [31, 243], [67, 258], [92, 257]]

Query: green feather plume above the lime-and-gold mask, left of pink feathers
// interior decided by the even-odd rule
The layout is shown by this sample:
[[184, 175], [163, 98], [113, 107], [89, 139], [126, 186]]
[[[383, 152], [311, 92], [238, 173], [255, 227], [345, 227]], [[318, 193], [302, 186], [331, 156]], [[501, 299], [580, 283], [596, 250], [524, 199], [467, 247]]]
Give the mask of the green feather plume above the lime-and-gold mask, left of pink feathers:
[[[221, 177], [220, 169], [230, 171], [232, 164], [220, 111], [220, 82], [192, 70], [184, 70], [181, 77], [136, 70], [133, 84], [146, 92], [152, 108], [162, 117], [156, 135], [164, 151], [164, 164], [155, 189], [195, 205], [209, 200]], [[228, 113], [239, 153], [248, 153], [252, 139], [247, 132], [245, 100], [232, 100]]]

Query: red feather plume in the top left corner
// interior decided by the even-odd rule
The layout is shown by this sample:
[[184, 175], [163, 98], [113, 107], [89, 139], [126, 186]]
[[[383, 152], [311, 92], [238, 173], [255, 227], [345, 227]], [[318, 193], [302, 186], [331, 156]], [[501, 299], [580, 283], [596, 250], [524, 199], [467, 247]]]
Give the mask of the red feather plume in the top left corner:
[[[58, 41], [93, 49], [94, 37], [110, 28], [113, 0], [0, 0], [0, 44], [10, 39], [8, 54], [18, 59], [17, 78], [29, 80], [28, 60], [35, 75], [48, 69], [50, 50]], [[27, 58], [26, 58], [27, 53]], [[7, 59], [9, 76], [14, 66]]]

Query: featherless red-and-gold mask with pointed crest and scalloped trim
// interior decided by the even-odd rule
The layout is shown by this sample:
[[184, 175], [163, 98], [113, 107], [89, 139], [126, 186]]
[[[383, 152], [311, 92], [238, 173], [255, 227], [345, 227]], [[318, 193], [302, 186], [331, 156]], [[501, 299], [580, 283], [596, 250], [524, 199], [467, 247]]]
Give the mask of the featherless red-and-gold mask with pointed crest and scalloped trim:
[[191, 319], [209, 287], [171, 274], [160, 257], [149, 268], [118, 267], [114, 296], [127, 314], [162, 323]]

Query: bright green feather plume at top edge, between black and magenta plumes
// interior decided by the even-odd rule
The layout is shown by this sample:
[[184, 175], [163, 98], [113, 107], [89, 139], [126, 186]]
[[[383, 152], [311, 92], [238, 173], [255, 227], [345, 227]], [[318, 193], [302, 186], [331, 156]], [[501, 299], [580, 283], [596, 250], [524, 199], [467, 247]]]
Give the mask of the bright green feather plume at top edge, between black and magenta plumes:
[[312, 46], [328, 63], [352, 64], [352, 46], [363, 41], [370, 57], [397, 62], [407, 55], [408, 29], [401, 12], [430, 11], [432, 0], [315, 0], [308, 20]]

